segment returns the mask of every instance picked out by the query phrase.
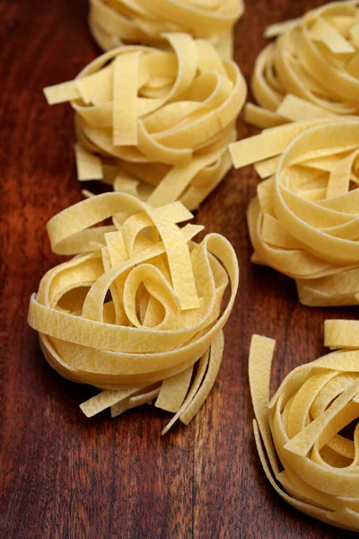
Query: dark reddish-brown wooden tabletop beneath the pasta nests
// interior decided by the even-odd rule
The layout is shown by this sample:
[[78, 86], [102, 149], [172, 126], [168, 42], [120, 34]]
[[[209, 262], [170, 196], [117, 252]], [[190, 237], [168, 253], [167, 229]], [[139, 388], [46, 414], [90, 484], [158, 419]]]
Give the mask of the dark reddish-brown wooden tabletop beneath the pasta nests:
[[[249, 79], [267, 24], [317, 0], [247, 0], [235, 59]], [[324, 352], [323, 321], [354, 308], [299, 305], [291, 279], [250, 265], [245, 212], [257, 178], [232, 172], [197, 214], [227, 236], [241, 287], [225, 328], [215, 388], [197, 418], [166, 437], [168, 417], [144, 406], [118, 420], [78, 408], [93, 389], [57, 376], [26, 323], [31, 293], [60, 259], [45, 224], [82, 199], [73, 113], [48, 107], [42, 88], [71, 79], [99, 50], [85, 0], [0, 0], [1, 358], [0, 537], [4, 539], [234, 539], [347, 537], [285, 504], [268, 485], [252, 437], [250, 336], [277, 340], [273, 389]], [[239, 123], [240, 136], [254, 133]], [[354, 536], [354, 535], [353, 535]]]

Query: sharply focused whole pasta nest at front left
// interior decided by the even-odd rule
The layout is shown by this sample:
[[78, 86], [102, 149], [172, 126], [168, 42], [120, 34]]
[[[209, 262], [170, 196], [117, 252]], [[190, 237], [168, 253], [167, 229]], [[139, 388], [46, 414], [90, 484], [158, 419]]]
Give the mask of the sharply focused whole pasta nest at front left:
[[[93, 226], [109, 217], [114, 225]], [[176, 414], [166, 431], [188, 424], [211, 391], [239, 270], [223, 236], [194, 243], [203, 227], [180, 228], [191, 217], [180, 202], [151, 208], [106, 193], [48, 222], [53, 251], [75, 256], [42, 278], [29, 323], [51, 367], [103, 390], [82, 404], [87, 416], [156, 399]]]

